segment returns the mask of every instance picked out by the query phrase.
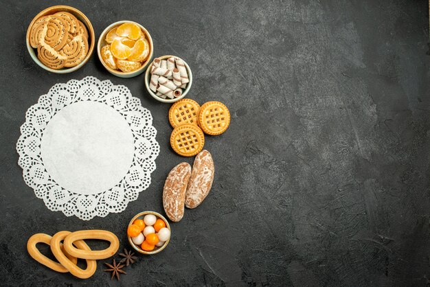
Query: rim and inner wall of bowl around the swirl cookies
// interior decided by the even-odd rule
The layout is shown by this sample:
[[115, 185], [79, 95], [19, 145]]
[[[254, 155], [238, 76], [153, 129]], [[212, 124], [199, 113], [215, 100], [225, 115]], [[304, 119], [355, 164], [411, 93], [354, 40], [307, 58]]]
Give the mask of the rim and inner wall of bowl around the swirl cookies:
[[[78, 18], [78, 20], [81, 21], [82, 23], [84, 23], [84, 25], [87, 27], [89, 50], [88, 50], [87, 56], [84, 58], [84, 60], [82, 62], [80, 62], [79, 65], [76, 65], [75, 67], [71, 67], [71, 68], [63, 68], [63, 69], [56, 70], [56, 69], [51, 69], [51, 68], [43, 65], [41, 60], [39, 60], [37, 58], [37, 49], [34, 49], [30, 45], [30, 27], [32, 27], [33, 23], [36, 22], [36, 20], [39, 19], [41, 16], [51, 15], [51, 14], [54, 14], [56, 12], [61, 12], [61, 11], [65, 11], [65, 12], [69, 12], [70, 14], [73, 14], [73, 16]], [[52, 6], [52, 7], [46, 8], [45, 10], [43, 10], [42, 12], [40, 12], [39, 14], [37, 14], [34, 17], [32, 22], [28, 26], [27, 36], [26, 36], [25, 41], [27, 42], [27, 50], [37, 65], [41, 66], [43, 69], [50, 71], [52, 73], [71, 73], [72, 71], [76, 71], [77, 69], [80, 69], [80, 67], [82, 67], [83, 65], [85, 65], [86, 62], [88, 62], [89, 58], [91, 57], [91, 54], [93, 54], [93, 51], [94, 51], [95, 38], [94, 38], [93, 25], [91, 25], [91, 22], [89, 21], [87, 16], [84, 15], [84, 13], [82, 13], [78, 9], [70, 7], [70, 6], [57, 5], [57, 6]]]

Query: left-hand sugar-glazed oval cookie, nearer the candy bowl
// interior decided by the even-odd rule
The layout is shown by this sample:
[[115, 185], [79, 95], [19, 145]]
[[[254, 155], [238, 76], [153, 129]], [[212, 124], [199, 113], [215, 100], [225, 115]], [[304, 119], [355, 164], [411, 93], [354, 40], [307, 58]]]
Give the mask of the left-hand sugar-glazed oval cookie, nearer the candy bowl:
[[163, 188], [163, 207], [173, 222], [183, 218], [185, 192], [191, 176], [191, 165], [179, 163], [169, 173]]

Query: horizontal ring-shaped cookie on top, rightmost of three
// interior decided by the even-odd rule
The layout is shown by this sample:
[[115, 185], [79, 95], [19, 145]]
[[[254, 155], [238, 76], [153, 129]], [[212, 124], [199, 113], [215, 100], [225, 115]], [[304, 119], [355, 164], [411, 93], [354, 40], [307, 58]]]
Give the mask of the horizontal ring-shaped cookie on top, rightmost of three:
[[[73, 246], [73, 242], [76, 242], [76, 240], [83, 239], [106, 240], [109, 241], [111, 244], [108, 248], [97, 251], [86, 251], [82, 249], [77, 249], [75, 246]], [[118, 240], [117, 236], [115, 236], [115, 234], [113, 234], [111, 231], [106, 230], [95, 229], [75, 231], [70, 233], [69, 236], [67, 236], [64, 240], [64, 248], [70, 255], [84, 259], [98, 260], [109, 258], [115, 255], [115, 253], [117, 253], [119, 247], [120, 240]]]

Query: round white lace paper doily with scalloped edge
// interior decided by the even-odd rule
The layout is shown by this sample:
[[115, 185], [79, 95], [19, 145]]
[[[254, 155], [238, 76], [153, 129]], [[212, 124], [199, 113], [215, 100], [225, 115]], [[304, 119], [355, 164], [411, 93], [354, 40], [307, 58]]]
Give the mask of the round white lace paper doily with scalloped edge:
[[157, 130], [126, 87], [94, 77], [55, 84], [25, 119], [19, 165], [49, 209], [83, 220], [104, 217], [150, 185]]

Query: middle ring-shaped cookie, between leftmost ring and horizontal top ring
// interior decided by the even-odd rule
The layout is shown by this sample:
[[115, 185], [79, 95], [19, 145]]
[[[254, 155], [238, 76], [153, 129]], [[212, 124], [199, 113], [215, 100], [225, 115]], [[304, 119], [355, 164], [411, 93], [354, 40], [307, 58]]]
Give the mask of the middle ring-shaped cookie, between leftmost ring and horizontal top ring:
[[[87, 268], [84, 270], [79, 268], [76, 263], [73, 263], [67, 258], [59, 249], [61, 240], [64, 240], [67, 236], [71, 234], [70, 231], [59, 231], [52, 236], [51, 240], [51, 251], [54, 253], [54, 256], [69, 270], [69, 272], [80, 279], [87, 279], [95, 273], [95, 269], [97, 268], [97, 262], [95, 260], [87, 259]], [[78, 246], [79, 249], [85, 252], [91, 252], [91, 248], [85, 243], [83, 240], [76, 240], [73, 244]]]

